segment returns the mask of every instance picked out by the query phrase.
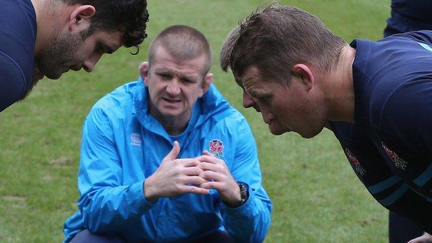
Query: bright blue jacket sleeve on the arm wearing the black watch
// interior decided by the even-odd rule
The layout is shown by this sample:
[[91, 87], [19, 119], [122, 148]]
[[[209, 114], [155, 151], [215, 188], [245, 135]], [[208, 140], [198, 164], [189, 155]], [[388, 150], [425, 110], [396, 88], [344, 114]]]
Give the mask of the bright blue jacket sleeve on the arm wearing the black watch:
[[237, 208], [221, 204], [224, 227], [238, 242], [262, 242], [270, 227], [271, 201], [262, 187], [260, 163], [251, 128], [243, 118], [237, 127], [231, 174], [249, 185], [249, 199]]

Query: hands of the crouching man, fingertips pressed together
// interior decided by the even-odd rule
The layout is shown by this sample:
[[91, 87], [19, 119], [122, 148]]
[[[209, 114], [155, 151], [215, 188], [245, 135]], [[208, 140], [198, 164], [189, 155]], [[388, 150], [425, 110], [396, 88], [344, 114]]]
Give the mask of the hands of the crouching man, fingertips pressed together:
[[210, 189], [215, 189], [227, 206], [239, 204], [240, 188], [225, 161], [207, 151], [195, 158], [177, 159], [179, 152], [179, 143], [175, 141], [159, 168], [145, 179], [143, 187], [147, 201], [183, 193], [205, 195]]

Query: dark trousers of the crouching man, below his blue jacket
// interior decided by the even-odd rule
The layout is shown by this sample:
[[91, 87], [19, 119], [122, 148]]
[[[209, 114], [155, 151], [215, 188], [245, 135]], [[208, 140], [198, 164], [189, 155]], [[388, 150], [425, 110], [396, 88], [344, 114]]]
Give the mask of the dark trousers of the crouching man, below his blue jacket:
[[[226, 231], [215, 231], [206, 237], [196, 240], [191, 243], [235, 243], [233, 237], [229, 235]], [[95, 235], [90, 233], [88, 230], [81, 231], [73, 239], [71, 243], [125, 243], [124, 240], [119, 237], [110, 237], [105, 235]]]

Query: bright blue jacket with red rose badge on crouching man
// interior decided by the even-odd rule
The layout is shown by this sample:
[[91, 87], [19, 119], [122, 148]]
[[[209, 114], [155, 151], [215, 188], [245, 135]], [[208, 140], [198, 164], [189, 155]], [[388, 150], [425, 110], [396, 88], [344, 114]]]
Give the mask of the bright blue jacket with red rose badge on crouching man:
[[190, 132], [178, 158], [216, 152], [235, 180], [249, 184], [246, 203], [228, 208], [212, 189], [209, 195], [164, 197], [151, 204], [143, 182], [174, 141], [148, 112], [147, 100], [140, 78], [91, 109], [82, 130], [79, 211], [64, 224], [64, 242], [84, 228], [126, 242], [188, 242], [224, 228], [238, 242], [262, 242], [270, 226], [271, 201], [262, 187], [255, 140], [244, 116], [212, 84], [195, 103], [195, 123], [186, 129]]

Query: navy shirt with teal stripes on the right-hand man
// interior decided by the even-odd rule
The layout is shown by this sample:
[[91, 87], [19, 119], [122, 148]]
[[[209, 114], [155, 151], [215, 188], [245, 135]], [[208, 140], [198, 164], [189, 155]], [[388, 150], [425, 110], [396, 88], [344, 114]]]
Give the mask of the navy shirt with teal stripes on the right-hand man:
[[354, 123], [332, 130], [372, 196], [432, 233], [432, 31], [351, 46]]

